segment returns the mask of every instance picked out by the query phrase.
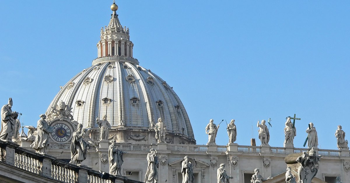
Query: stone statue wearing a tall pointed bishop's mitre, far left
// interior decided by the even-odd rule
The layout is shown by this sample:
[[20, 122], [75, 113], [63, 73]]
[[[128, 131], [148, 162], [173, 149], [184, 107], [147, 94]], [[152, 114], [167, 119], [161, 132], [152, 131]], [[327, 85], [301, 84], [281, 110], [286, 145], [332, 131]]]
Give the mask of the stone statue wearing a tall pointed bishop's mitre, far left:
[[8, 99], [8, 104], [1, 108], [1, 131], [0, 140], [12, 141], [12, 136], [15, 130], [16, 119], [18, 112], [12, 112], [12, 98]]

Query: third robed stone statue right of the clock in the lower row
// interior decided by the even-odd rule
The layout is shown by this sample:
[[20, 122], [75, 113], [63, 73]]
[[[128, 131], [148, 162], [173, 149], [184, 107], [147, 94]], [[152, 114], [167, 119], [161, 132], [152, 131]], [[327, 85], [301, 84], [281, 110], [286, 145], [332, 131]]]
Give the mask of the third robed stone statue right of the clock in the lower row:
[[148, 166], [145, 174], [145, 183], [158, 182], [159, 159], [156, 153], [157, 151], [154, 148], [151, 148], [147, 154]]

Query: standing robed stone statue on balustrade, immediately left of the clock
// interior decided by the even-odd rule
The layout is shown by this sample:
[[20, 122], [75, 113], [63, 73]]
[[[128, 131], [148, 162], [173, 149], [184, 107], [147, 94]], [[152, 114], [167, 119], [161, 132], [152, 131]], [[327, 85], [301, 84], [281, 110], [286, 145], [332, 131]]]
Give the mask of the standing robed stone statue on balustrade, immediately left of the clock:
[[54, 131], [55, 127], [49, 127], [49, 124], [45, 121], [45, 114], [40, 114], [40, 120], [37, 123], [36, 136], [34, 142], [30, 145], [35, 152], [44, 154], [46, 148], [49, 146], [49, 134]]

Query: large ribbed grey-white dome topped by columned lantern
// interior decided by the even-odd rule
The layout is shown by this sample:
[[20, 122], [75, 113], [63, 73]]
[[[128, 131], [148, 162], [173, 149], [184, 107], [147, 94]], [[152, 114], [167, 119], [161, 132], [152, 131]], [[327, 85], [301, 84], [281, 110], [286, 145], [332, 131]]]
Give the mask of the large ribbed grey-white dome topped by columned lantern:
[[70, 79], [52, 100], [48, 119], [52, 109], [64, 102], [71, 108], [72, 120], [84, 128], [98, 129], [97, 117], [107, 115], [112, 126], [109, 139], [152, 143], [153, 126], [162, 117], [167, 143], [196, 143], [180, 98], [162, 78], [132, 58], [129, 29], [123, 29], [115, 12], [109, 26], [101, 29], [97, 47], [99, 57], [92, 66]]

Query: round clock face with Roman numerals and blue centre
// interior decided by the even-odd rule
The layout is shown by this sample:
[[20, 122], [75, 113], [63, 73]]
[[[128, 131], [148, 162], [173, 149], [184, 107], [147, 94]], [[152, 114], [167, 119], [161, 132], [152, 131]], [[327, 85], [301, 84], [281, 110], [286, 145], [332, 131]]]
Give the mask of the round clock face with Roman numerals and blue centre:
[[64, 144], [72, 139], [74, 128], [71, 124], [65, 121], [56, 121], [51, 123], [50, 126], [54, 127], [54, 130], [50, 134], [50, 137], [54, 142]]

